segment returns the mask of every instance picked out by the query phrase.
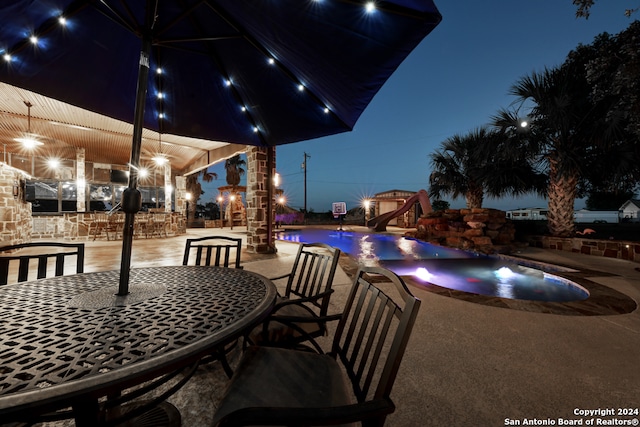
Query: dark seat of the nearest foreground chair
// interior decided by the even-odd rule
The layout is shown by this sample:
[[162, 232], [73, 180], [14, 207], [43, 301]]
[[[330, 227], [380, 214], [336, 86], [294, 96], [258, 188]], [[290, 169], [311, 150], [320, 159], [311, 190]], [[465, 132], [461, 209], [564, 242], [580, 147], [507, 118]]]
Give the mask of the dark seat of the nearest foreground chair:
[[323, 408], [355, 402], [351, 382], [331, 356], [251, 346], [245, 350], [220, 402], [214, 425], [247, 406]]

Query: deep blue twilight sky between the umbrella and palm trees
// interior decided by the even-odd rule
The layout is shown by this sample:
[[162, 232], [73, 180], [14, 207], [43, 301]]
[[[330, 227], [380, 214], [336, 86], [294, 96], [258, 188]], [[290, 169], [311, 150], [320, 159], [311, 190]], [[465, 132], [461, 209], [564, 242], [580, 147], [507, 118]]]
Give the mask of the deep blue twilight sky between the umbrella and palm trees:
[[[442, 141], [466, 134], [514, 100], [515, 81], [533, 71], [561, 64], [578, 44], [602, 32], [616, 34], [632, 19], [625, 8], [634, 0], [600, 0], [588, 20], [575, 17], [571, 0], [435, 0], [442, 22], [402, 63], [364, 111], [352, 132], [278, 146], [276, 169], [287, 204], [304, 207], [304, 153], [307, 159], [307, 209], [347, 209], [375, 193], [428, 190], [429, 154]], [[221, 164], [211, 168], [218, 180], [203, 184], [200, 203], [212, 201], [226, 185]], [[446, 198], [451, 207], [463, 198]], [[497, 209], [545, 207], [533, 196], [485, 199]], [[583, 208], [584, 202], [576, 202]]]

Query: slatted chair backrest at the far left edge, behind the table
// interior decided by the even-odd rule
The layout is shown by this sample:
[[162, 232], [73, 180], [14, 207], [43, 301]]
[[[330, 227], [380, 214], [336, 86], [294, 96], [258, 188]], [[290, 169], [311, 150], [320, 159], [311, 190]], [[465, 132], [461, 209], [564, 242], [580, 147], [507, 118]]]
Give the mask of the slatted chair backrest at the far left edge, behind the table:
[[[43, 252], [44, 249], [47, 252]], [[8, 253], [16, 250], [20, 250], [20, 252]], [[76, 257], [76, 273], [84, 272], [84, 243], [37, 242], [0, 247], [0, 285], [8, 283], [10, 267], [16, 262], [18, 264], [16, 282], [25, 282], [29, 280], [29, 269], [33, 265], [32, 260], [38, 261], [37, 278], [42, 279], [47, 277], [49, 260], [55, 259], [54, 274], [62, 276], [65, 259], [74, 256]]]

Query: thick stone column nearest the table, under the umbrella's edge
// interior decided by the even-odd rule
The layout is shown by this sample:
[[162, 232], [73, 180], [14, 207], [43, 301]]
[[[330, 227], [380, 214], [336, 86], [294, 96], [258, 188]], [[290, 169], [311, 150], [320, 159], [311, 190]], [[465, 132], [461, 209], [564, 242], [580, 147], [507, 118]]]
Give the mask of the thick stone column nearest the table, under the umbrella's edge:
[[[272, 162], [269, 162], [269, 150], [272, 150]], [[247, 251], [273, 253], [276, 248], [270, 178], [275, 174], [275, 148], [251, 147], [247, 151], [247, 169]]]

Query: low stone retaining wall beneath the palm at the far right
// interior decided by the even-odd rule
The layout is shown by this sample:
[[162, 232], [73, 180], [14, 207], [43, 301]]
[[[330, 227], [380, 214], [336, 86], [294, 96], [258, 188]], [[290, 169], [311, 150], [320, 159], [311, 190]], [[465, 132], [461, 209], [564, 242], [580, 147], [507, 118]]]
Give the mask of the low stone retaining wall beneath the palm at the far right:
[[529, 246], [640, 262], [640, 242], [585, 237], [528, 236]]

